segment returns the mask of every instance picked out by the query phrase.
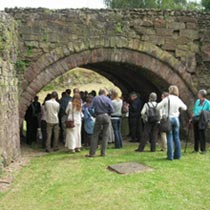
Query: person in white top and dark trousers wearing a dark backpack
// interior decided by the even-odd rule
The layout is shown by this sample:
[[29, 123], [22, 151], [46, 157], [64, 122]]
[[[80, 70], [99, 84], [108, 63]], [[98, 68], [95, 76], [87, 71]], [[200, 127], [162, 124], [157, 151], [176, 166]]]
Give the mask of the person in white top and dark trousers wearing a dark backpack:
[[158, 122], [160, 121], [160, 111], [157, 110], [157, 94], [150, 93], [149, 102], [144, 104], [141, 111], [144, 126], [144, 138], [142, 138], [136, 152], [143, 152], [147, 141], [149, 140], [151, 146], [150, 151], [156, 151], [156, 142], [158, 136]]

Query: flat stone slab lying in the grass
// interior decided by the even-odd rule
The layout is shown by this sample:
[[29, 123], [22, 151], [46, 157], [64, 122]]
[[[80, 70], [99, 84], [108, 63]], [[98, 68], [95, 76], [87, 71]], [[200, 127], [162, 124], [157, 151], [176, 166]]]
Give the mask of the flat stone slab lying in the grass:
[[111, 165], [108, 166], [108, 169], [118, 174], [134, 174], [146, 171], [153, 171], [153, 169], [150, 168], [149, 166], [145, 166], [143, 164], [135, 162], [127, 162], [127, 163]]

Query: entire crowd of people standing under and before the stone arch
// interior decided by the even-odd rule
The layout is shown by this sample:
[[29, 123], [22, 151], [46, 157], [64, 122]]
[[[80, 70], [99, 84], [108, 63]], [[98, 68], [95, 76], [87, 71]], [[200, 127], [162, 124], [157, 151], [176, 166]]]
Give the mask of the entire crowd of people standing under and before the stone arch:
[[[167, 159], [181, 158], [180, 110], [187, 106], [179, 98], [177, 86], [170, 86], [168, 92], [158, 96], [152, 92], [148, 102], [143, 103], [136, 92], [127, 99], [120, 98], [116, 90], [101, 89], [88, 93], [78, 88], [67, 89], [59, 99], [57, 92], [48, 94], [41, 105], [36, 96], [25, 115], [26, 142], [32, 144], [37, 136], [42, 140], [46, 152], [57, 151], [62, 142], [69, 152], [80, 152], [89, 148], [86, 157], [95, 157], [101, 143], [101, 156], [107, 153], [107, 144], [114, 143], [116, 149], [123, 147], [121, 134], [122, 116], [128, 119], [130, 142], [138, 142], [136, 152], [144, 152], [150, 143], [150, 151], [156, 151], [158, 136], [161, 137], [161, 151], [167, 151]], [[206, 152], [205, 130], [210, 119], [210, 102], [206, 90], [200, 90], [189, 123], [194, 127], [194, 151]], [[167, 125], [167, 130], [162, 129]]]

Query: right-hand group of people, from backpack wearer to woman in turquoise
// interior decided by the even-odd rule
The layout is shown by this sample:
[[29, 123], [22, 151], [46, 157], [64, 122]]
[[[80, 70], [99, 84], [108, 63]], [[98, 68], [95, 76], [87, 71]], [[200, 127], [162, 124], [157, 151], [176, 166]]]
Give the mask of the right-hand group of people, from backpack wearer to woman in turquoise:
[[[210, 122], [210, 101], [206, 99], [207, 91], [202, 89], [198, 92], [198, 99], [195, 102], [193, 114], [190, 118], [190, 125], [194, 128], [194, 151], [200, 150], [201, 154], [206, 153], [206, 129]], [[181, 158], [180, 141], [180, 110], [186, 111], [187, 106], [179, 98], [179, 89], [172, 85], [169, 92], [163, 92], [162, 101], [157, 103], [157, 94], [151, 93], [149, 101], [144, 104], [141, 110], [141, 118], [144, 124], [144, 135], [140, 140], [136, 152], [143, 152], [147, 141], [150, 142], [151, 152], [156, 151], [158, 131], [161, 135], [161, 150], [167, 150], [167, 159], [174, 160]], [[170, 129], [162, 132], [161, 119], [168, 118]]]

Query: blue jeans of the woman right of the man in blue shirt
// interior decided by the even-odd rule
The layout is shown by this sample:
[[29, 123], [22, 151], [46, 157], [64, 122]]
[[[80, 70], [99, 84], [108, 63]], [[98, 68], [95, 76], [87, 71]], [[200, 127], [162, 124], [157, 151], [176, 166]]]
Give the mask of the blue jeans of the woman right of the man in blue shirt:
[[112, 119], [112, 127], [114, 130], [115, 148], [122, 148], [121, 118]]

